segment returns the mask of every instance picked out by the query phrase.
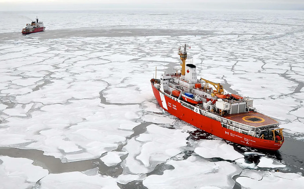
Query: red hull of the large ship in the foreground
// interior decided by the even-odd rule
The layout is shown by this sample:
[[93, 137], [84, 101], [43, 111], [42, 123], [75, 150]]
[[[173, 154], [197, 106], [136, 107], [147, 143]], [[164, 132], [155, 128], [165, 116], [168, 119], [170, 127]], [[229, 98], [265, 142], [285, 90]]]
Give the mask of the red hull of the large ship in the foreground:
[[[222, 127], [221, 122], [211, 119], [209, 117], [203, 116], [199, 113], [192, 111], [191, 109], [182, 106], [178, 101], [175, 101], [164, 95], [163, 100], [161, 100], [160, 92], [153, 86], [153, 94], [158, 102], [158, 104], [170, 114], [178, 117], [179, 119], [190, 123], [191, 125], [200, 128], [208, 133], [218, 136], [222, 139], [241, 144], [244, 146], [249, 146], [252, 148], [257, 148], [261, 150], [279, 150], [282, 144], [277, 143], [273, 140], [265, 140], [250, 135], [245, 135], [225, 127]], [[165, 102], [164, 102], [165, 101]], [[166, 105], [166, 108], [162, 104]], [[164, 106], [165, 106], [164, 105]]]

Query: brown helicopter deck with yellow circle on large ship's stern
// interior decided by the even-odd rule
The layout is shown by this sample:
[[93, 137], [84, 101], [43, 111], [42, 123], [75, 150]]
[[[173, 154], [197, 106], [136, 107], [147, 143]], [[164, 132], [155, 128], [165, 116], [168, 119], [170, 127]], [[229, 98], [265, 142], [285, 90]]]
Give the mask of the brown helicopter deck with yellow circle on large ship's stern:
[[258, 112], [238, 113], [223, 117], [253, 127], [261, 127], [278, 123], [278, 121]]

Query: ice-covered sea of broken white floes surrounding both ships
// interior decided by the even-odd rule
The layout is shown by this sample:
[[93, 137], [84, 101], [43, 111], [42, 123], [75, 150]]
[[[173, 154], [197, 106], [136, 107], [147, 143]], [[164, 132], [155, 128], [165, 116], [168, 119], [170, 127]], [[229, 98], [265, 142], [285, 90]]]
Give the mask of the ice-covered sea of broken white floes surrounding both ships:
[[[21, 35], [36, 15], [46, 30]], [[304, 186], [303, 11], [0, 16], [7, 28], [0, 32], [4, 189]], [[155, 67], [157, 77], [172, 71], [185, 43], [198, 76], [254, 98], [258, 110], [280, 121], [286, 141], [279, 151], [223, 141], [157, 105], [150, 86]], [[244, 153], [252, 151], [264, 156], [250, 162]]]

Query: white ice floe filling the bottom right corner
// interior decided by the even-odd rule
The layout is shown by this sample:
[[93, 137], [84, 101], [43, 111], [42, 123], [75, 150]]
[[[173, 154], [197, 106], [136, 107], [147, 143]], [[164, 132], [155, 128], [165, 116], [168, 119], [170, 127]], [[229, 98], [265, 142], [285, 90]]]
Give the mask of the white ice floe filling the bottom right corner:
[[244, 176], [237, 178], [236, 182], [248, 189], [267, 189], [269, 186], [274, 189], [302, 189], [304, 186], [304, 177], [295, 173], [261, 171], [257, 175], [256, 171], [247, 170]]

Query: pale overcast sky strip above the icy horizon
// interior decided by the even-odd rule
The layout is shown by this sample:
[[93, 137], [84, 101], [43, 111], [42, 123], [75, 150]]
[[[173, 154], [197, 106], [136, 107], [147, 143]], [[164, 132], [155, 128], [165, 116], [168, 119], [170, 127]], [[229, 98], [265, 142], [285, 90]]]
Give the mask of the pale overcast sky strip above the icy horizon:
[[0, 0], [0, 10], [101, 8], [244, 8], [304, 10], [304, 0]]

